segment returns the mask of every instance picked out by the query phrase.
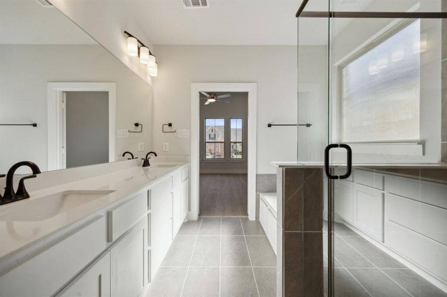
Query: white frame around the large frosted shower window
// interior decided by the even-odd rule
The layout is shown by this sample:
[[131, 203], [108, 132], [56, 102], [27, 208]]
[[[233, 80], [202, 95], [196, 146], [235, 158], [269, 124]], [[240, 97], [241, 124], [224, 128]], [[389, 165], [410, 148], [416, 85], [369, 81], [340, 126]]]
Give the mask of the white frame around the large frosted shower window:
[[[380, 34], [379, 36], [372, 39], [371, 42], [369, 42], [365, 47], [362, 49], [359, 49], [352, 53], [349, 57], [343, 60], [342, 63], [336, 65], [336, 74], [337, 74], [337, 92], [336, 92], [336, 117], [338, 120], [335, 120], [333, 122], [336, 127], [336, 139], [338, 142], [343, 142], [346, 144], [421, 144], [421, 126], [419, 125], [419, 139], [404, 139], [404, 140], [377, 140], [377, 141], [344, 141], [344, 135], [343, 135], [343, 69], [348, 66], [351, 62], [355, 61], [360, 56], [366, 54], [370, 50], [376, 48], [377, 46], [381, 45], [384, 41], [391, 38], [395, 34], [397, 34], [399, 31], [403, 30], [405, 27], [409, 26], [413, 22], [420, 20], [417, 18], [412, 19], [404, 19], [396, 24], [394, 24], [392, 27], [387, 29], [385, 32]], [[421, 116], [419, 116], [419, 123], [421, 122]]]

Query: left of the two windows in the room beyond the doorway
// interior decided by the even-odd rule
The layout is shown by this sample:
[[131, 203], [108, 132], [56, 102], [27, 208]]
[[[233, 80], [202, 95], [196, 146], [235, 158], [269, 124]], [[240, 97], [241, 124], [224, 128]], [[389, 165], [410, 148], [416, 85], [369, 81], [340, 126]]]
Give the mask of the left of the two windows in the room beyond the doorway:
[[225, 158], [225, 119], [205, 119], [205, 159]]

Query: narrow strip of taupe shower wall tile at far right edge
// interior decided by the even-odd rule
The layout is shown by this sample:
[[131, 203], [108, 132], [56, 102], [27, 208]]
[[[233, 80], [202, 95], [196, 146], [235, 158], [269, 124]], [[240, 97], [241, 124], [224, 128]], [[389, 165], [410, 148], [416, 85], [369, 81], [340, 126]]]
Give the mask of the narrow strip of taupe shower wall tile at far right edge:
[[[442, 0], [447, 12], [447, 0]], [[447, 19], [442, 20], [442, 99], [441, 99], [441, 159], [447, 162]]]

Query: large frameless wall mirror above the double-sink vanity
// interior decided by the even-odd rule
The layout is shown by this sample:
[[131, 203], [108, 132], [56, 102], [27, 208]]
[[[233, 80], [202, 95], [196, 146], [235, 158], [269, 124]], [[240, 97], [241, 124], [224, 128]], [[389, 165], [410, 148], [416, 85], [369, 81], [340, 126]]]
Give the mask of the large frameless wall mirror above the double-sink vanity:
[[149, 151], [151, 86], [41, 2], [0, 1], [0, 174], [23, 160], [48, 171]]

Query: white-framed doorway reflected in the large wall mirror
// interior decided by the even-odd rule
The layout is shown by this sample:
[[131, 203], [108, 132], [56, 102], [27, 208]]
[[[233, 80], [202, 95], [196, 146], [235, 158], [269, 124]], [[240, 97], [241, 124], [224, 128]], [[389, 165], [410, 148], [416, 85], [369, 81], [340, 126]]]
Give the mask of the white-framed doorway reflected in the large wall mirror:
[[47, 93], [48, 170], [115, 161], [115, 83], [48, 83]]

